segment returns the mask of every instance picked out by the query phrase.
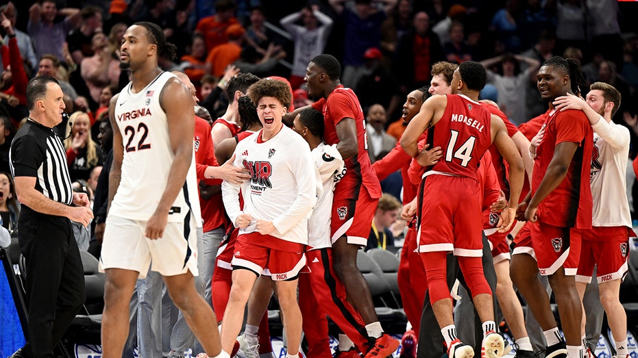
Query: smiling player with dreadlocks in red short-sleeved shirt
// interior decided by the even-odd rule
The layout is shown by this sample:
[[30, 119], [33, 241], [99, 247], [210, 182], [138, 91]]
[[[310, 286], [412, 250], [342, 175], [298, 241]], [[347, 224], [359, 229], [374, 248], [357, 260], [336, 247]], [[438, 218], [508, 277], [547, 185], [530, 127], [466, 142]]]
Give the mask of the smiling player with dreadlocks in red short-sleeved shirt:
[[[578, 61], [552, 57], [541, 66], [537, 79], [549, 112], [542, 141], [532, 153], [535, 155], [532, 190], [519, 205], [519, 212], [525, 211], [526, 219], [532, 224], [536, 222], [528, 225], [532, 247], [539, 272], [548, 277], [554, 290], [565, 340], [556, 328], [549, 299], [536, 273], [512, 275], [526, 278], [524, 284], [517, 278], [517, 287], [543, 329], [548, 344], [546, 356], [577, 358], [583, 356], [584, 346], [580, 335], [582, 305], [574, 275], [580, 257], [580, 230], [591, 228], [591, 189], [587, 179], [593, 131], [582, 111], [560, 112], [552, 103], [568, 92], [580, 93], [584, 77]], [[528, 270], [527, 266], [522, 268]]]

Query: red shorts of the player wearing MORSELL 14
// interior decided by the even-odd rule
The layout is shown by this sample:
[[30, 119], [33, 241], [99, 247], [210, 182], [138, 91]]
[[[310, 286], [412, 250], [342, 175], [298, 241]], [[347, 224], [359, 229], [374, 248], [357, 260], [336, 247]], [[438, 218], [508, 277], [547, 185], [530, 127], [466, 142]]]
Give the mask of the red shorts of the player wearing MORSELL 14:
[[456, 256], [481, 257], [482, 212], [478, 181], [467, 177], [426, 177], [417, 231], [419, 253], [454, 251]]

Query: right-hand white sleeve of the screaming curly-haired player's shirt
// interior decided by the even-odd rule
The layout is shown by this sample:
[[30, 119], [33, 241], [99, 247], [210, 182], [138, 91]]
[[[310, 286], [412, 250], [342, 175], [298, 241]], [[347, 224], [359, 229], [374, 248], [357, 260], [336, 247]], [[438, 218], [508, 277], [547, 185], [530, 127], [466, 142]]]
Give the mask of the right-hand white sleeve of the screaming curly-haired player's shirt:
[[297, 199], [291, 207], [273, 220], [279, 233], [295, 227], [317, 203], [317, 168], [312, 164], [310, 148], [289, 151], [288, 165], [297, 180]]

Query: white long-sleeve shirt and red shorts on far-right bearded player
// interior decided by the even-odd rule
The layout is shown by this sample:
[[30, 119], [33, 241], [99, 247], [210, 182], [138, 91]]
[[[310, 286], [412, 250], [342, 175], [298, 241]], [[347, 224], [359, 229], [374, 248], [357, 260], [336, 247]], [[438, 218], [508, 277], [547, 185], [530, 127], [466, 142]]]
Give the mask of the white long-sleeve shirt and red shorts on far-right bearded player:
[[600, 118], [593, 125], [593, 155], [591, 157], [591, 196], [593, 200], [592, 229], [582, 231], [580, 263], [576, 281], [591, 281], [593, 266], [597, 266], [598, 283], [622, 279], [629, 256], [631, 216], [626, 188], [626, 168], [629, 157], [629, 130]]

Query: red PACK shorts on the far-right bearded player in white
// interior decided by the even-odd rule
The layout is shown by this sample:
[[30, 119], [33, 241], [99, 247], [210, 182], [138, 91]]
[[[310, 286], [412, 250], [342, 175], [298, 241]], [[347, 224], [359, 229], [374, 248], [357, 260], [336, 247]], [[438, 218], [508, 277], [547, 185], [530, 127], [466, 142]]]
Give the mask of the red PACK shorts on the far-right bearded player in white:
[[598, 283], [623, 279], [629, 257], [628, 227], [593, 227], [582, 230], [576, 281], [591, 282], [593, 266]]

